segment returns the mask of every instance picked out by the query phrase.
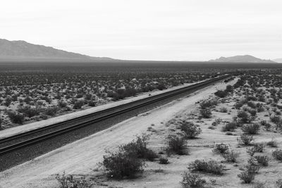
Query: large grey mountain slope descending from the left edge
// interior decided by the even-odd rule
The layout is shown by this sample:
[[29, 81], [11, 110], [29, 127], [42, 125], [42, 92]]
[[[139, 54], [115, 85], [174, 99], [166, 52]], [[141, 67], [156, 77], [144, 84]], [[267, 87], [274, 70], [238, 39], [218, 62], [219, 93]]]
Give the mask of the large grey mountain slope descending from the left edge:
[[50, 46], [30, 44], [25, 41], [8, 41], [0, 39], [0, 59], [48, 59], [48, 60], [85, 60], [107, 61], [112, 58], [100, 58], [75, 54], [73, 52], [54, 49]]

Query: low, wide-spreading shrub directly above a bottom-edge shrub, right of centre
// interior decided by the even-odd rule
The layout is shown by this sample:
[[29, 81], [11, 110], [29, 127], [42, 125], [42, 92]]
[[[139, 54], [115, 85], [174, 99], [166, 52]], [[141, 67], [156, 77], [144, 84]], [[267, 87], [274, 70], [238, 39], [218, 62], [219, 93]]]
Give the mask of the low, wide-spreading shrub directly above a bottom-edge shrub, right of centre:
[[192, 171], [200, 171], [204, 173], [212, 173], [215, 175], [222, 175], [224, 165], [219, 164], [219, 162], [209, 159], [208, 161], [202, 159], [197, 159], [189, 164], [188, 167]]

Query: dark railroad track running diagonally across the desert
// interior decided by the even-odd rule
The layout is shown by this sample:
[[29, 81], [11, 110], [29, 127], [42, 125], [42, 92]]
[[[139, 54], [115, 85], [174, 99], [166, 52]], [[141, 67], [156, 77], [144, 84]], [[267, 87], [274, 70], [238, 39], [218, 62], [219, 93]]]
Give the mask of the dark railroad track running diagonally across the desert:
[[162, 94], [149, 96], [145, 99], [132, 101], [127, 104], [122, 104], [120, 106], [114, 106], [112, 108], [107, 108], [105, 110], [97, 111], [95, 113], [82, 115], [78, 118], [66, 120], [61, 123], [55, 123], [53, 125], [40, 127], [36, 130], [30, 130], [20, 134], [15, 134], [11, 137], [5, 137], [3, 139], [0, 139], [0, 157], [4, 154], [17, 151], [18, 149], [23, 149], [27, 146], [32, 146], [33, 144], [44, 142], [51, 138], [58, 137], [68, 132], [72, 132], [74, 130], [79, 130], [82, 127], [95, 126], [94, 123], [98, 123], [102, 120], [106, 120], [108, 118], [112, 118], [114, 116], [133, 111], [136, 108], [141, 108], [142, 106], [147, 106], [157, 101], [168, 99], [171, 96], [183, 94], [185, 92], [189, 92], [195, 89], [201, 89], [202, 87], [206, 87], [209, 84], [226, 79], [227, 77], [231, 77], [231, 75], [223, 75], [221, 77], [216, 77], [211, 80], [192, 84], [188, 87], [174, 89], [172, 91], [164, 92]]

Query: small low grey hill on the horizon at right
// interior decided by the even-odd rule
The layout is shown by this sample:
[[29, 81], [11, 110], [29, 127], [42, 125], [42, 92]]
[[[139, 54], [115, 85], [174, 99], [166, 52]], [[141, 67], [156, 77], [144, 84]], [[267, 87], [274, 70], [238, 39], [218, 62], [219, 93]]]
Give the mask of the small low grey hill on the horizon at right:
[[210, 62], [233, 62], [233, 63], [276, 63], [271, 60], [265, 60], [261, 58], [256, 58], [254, 56], [245, 55], [245, 56], [232, 56], [232, 57], [220, 57], [217, 59], [209, 60]]

